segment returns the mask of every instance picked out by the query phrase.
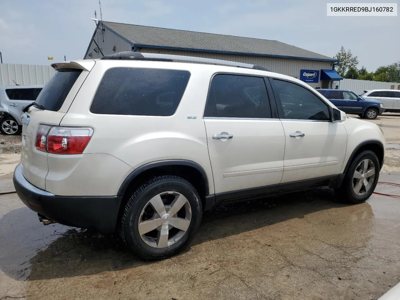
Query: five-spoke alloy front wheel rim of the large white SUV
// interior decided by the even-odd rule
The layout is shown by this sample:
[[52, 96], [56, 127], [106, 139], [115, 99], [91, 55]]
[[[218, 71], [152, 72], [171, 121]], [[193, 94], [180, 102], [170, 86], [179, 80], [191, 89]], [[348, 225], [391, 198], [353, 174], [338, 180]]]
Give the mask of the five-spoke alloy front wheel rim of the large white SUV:
[[353, 190], [358, 196], [366, 194], [372, 187], [375, 179], [375, 166], [372, 160], [362, 160], [353, 175]]

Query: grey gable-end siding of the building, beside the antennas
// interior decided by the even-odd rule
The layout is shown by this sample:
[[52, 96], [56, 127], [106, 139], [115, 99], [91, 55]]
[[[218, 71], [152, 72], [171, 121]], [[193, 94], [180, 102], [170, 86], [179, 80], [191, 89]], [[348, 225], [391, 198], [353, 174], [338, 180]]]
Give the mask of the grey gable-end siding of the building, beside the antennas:
[[[132, 51], [132, 46], [126, 40], [116, 35], [114, 32], [110, 31], [108, 28], [104, 28], [104, 33], [101, 33], [101, 29], [97, 30], [97, 33], [94, 35], [93, 40], [90, 42], [89, 50], [84, 59], [90, 58], [102, 58], [102, 54], [100, 51], [96, 52], [94, 49], [97, 47], [96, 43], [99, 45], [100, 50], [102, 50], [104, 55], [121, 52], [121, 51]], [[104, 36], [104, 42], [103, 42]], [[96, 41], [96, 43], [94, 42]], [[115, 51], [112, 48], [115, 46]], [[89, 54], [92, 54], [90, 56]]]

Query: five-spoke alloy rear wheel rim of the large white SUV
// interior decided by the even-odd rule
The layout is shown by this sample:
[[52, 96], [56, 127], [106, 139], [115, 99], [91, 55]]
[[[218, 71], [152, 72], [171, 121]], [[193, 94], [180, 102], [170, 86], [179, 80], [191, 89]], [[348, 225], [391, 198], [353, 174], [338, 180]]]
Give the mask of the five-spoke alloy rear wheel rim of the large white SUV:
[[153, 248], [178, 242], [188, 230], [192, 208], [178, 192], [163, 192], [151, 198], [140, 213], [138, 230], [142, 240]]

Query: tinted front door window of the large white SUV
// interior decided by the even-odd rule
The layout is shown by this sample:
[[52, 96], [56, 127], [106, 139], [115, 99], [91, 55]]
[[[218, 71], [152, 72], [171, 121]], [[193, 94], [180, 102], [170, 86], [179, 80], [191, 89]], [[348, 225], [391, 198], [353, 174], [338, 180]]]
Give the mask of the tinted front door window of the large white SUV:
[[328, 106], [310, 90], [274, 79], [285, 119], [330, 120]]

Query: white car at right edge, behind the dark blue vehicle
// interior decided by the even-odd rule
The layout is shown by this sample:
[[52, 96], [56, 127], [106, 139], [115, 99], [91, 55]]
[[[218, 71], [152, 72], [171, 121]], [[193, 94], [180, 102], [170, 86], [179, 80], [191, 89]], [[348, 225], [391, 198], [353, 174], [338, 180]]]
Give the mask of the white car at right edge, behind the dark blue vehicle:
[[382, 103], [385, 112], [400, 112], [400, 90], [367, 90], [360, 96]]

